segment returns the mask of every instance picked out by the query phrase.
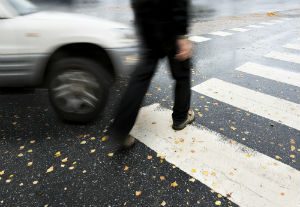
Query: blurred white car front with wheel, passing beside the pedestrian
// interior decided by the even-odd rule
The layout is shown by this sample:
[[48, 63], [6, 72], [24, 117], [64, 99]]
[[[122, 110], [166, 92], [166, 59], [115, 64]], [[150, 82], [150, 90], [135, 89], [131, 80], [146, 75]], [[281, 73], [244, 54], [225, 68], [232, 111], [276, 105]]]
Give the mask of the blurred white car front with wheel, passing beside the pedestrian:
[[137, 55], [134, 30], [126, 25], [0, 0], [0, 87], [47, 87], [63, 119], [95, 118]]

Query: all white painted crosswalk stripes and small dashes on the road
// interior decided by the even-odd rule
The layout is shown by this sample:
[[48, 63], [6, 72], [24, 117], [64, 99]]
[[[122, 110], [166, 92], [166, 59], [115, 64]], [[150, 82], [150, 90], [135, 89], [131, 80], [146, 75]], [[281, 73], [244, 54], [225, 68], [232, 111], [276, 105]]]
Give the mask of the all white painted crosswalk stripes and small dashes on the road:
[[[216, 32], [214, 35], [228, 34]], [[198, 42], [208, 41], [194, 38]], [[272, 51], [262, 58], [300, 64], [297, 53], [300, 45], [293, 42], [283, 45], [284, 48], [293, 51]], [[300, 88], [300, 71], [287, 69], [246, 62], [235, 71]], [[210, 78], [195, 85], [192, 90], [300, 131], [299, 103], [218, 78]], [[232, 143], [230, 137], [205, 127], [188, 126], [183, 131], [173, 131], [170, 128], [171, 113], [159, 104], [143, 107], [131, 135], [239, 206], [300, 206], [300, 171], [243, 144]]]

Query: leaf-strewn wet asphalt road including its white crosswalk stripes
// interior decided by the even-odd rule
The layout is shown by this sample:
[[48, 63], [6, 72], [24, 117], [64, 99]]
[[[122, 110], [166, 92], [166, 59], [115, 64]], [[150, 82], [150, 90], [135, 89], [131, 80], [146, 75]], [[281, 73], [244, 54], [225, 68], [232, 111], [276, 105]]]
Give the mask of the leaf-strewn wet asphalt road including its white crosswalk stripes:
[[[209, 142], [193, 152], [170, 151], [176, 148], [179, 137], [172, 137], [173, 132], [170, 137], [165, 136], [167, 129], [163, 121], [168, 117], [163, 115], [164, 110], [172, 109], [173, 81], [164, 61], [143, 104], [143, 110], [157, 103], [162, 108], [161, 112], [154, 111], [159, 114], [155, 124], [160, 131], [151, 134], [137, 126], [133, 134], [140, 141], [126, 154], [110, 154], [112, 146], [103, 138], [126, 81], [116, 84], [103, 116], [88, 125], [61, 122], [50, 107], [45, 90], [1, 90], [0, 206], [259, 206], [255, 198], [264, 196], [268, 204], [264, 206], [276, 206], [270, 200], [284, 201], [293, 191], [294, 200], [288, 199], [284, 206], [294, 207], [294, 201], [300, 200], [299, 189], [276, 182], [289, 179], [291, 183], [299, 183], [299, 14], [299, 11], [288, 11], [268, 16], [264, 11], [258, 17], [247, 14], [235, 21], [218, 17], [205, 24], [196, 21], [193, 25], [191, 35], [199, 41], [194, 46], [192, 80], [192, 86], [198, 86], [193, 88], [192, 97], [197, 117], [193, 128], [187, 129], [180, 138], [188, 142], [194, 133], [207, 130], [207, 136], [213, 136], [211, 143], [224, 145], [224, 151], [214, 151], [218, 146]], [[236, 27], [239, 29], [230, 30]], [[228, 36], [209, 34], [219, 30]], [[288, 43], [294, 49], [283, 47]], [[256, 66], [252, 65], [250, 70], [242, 67], [243, 72], [237, 70], [245, 63]], [[261, 65], [268, 66], [272, 72], [261, 73]], [[285, 73], [278, 73], [278, 68]], [[258, 72], [253, 74], [255, 71]], [[225, 85], [219, 91], [210, 92], [206, 90], [207, 81], [215, 86], [224, 82]], [[239, 93], [235, 96], [236, 90]], [[248, 106], [249, 102], [254, 107]], [[294, 110], [289, 108], [291, 105]], [[280, 121], [272, 113], [275, 109], [282, 115]], [[145, 122], [146, 128], [153, 127], [146, 124], [145, 117], [138, 122]], [[166, 139], [171, 141], [164, 145]], [[211, 150], [214, 151], [211, 157], [206, 156]], [[242, 153], [246, 153], [244, 157], [240, 157]], [[210, 160], [216, 163], [225, 155], [228, 159], [213, 169]], [[255, 166], [235, 163], [237, 160], [250, 163], [248, 159], [263, 169], [264, 163], [275, 163], [283, 171], [277, 172], [275, 168], [257, 175], [252, 172]], [[199, 161], [199, 165], [186, 170], [190, 160]], [[218, 177], [226, 166], [237, 166], [237, 169], [232, 169], [227, 177]], [[251, 177], [235, 177], [239, 170], [251, 171]], [[257, 186], [247, 191], [251, 184], [247, 181], [255, 183], [262, 179], [267, 182], [263, 183], [267, 188], [260, 187], [269, 187], [270, 194], [264, 194]], [[283, 187], [286, 187], [284, 191], [275, 191]], [[245, 194], [240, 195], [241, 192]]]

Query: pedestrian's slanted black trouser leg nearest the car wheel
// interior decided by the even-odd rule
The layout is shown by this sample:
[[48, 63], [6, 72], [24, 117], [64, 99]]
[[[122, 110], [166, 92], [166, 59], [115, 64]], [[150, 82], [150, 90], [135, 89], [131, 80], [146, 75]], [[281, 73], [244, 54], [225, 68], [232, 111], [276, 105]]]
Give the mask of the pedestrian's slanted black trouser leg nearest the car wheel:
[[159, 58], [146, 54], [133, 72], [128, 87], [121, 99], [120, 107], [110, 128], [111, 136], [118, 142], [123, 142], [131, 131], [143, 98], [149, 88]]

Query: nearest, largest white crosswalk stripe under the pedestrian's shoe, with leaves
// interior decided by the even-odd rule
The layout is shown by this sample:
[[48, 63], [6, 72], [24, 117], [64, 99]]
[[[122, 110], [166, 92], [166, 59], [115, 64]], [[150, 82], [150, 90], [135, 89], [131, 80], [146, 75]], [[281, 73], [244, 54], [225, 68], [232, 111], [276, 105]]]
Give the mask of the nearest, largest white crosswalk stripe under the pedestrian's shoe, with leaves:
[[205, 128], [175, 132], [171, 114], [159, 104], [143, 107], [131, 135], [239, 206], [297, 206], [299, 171]]

